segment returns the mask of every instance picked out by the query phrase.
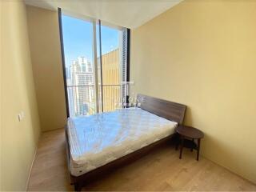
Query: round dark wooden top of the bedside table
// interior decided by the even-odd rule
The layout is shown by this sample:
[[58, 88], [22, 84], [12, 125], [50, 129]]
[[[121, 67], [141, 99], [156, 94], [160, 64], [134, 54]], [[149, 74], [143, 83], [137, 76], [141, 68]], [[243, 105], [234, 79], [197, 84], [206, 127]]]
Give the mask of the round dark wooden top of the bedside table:
[[198, 130], [192, 126], [178, 126], [176, 128], [178, 134], [187, 138], [203, 138], [204, 134], [201, 130]]

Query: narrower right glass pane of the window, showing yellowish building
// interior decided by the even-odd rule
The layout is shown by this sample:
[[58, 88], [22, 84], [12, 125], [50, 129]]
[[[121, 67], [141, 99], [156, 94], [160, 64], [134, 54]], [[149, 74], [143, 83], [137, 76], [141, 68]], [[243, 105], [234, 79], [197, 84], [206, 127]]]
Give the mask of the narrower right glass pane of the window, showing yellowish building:
[[102, 35], [102, 97], [103, 111], [121, 108], [121, 62], [119, 42], [121, 31], [101, 26]]

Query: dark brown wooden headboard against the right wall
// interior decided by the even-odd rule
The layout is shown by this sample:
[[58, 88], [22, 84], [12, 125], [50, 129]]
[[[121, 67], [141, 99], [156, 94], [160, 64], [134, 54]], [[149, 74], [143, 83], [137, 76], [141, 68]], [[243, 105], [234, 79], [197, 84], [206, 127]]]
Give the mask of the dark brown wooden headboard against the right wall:
[[156, 114], [162, 118], [166, 118], [173, 122], [178, 122], [182, 125], [186, 106], [169, 102], [160, 98], [153, 98], [143, 94], [138, 94], [137, 106], [142, 110], [149, 111], [151, 114]]

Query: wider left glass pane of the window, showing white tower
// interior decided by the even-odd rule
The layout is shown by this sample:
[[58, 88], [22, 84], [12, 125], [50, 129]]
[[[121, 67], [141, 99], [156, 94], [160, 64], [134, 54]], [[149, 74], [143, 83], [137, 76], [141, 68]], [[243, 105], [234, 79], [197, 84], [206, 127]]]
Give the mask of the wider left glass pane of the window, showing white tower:
[[62, 15], [70, 117], [96, 113], [93, 24]]

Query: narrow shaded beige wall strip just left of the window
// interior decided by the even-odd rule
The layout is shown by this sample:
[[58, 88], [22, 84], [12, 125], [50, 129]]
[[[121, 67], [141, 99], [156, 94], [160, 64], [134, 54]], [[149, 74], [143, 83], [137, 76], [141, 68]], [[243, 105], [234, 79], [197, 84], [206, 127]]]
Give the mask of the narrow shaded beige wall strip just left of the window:
[[58, 12], [26, 6], [30, 52], [42, 131], [66, 124]]

